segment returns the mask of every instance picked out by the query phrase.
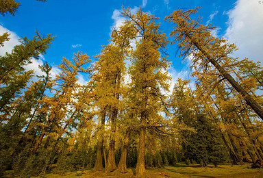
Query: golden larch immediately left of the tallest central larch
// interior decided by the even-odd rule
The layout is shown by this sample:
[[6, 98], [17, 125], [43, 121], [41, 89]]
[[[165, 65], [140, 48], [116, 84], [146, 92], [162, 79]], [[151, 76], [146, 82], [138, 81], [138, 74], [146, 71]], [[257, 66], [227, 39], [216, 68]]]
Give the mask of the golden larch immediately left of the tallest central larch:
[[[130, 40], [134, 38], [134, 30], [129, 23], [123, 24], [112, 31], [111, 44], [105, 46], [98, 55], [98, 62], [95, 64], [97, 74], [94, 75], [97, 83], [96, 105], [101, 108], [101, 122], [105, 122], [105, 114], [108, 113], [110, 121], [110, 144], [105, 170], [111, 172], [116, 169], [115, 162], [115, 135], [116, 120], [121, 108], [121, 94], [124, 92], [123, 77], [125, 75], [125, 58], [130, 51]], [[101, 136], [103, 138], [103, 136]], [[100, 138], [100, 139], [102, 139]], [[101, 142], [101, 140], [99, 141]], [[101, 143], [99, 144], [98, 156], [101, 154]], [[101, 170], [101, 158], [98, 158], [100, 166], [95, 164], [95, 170]]]

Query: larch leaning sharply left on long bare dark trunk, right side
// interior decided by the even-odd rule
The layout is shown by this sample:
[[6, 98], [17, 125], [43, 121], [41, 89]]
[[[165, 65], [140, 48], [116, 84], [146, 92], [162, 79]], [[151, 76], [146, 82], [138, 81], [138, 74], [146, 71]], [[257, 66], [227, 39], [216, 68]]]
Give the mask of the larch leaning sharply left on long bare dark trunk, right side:
[[234, 61], [230, 54], [236, 51], [236, 46], [227, 43], [227, 40], [223, 38], [212, 36], [211, 31], [215, 27], [201, 25], [200, 18], [197, 21], [192, 20], [190, 15], [195, 14], [197, 10], [198, 8], [186, 11], [176, 10], [170, 16], [166, 16], [169, 22], [176, 25], [170, 36], [175, 37], [173, 43], [178, 42], [181, 49], [180, 56], [191, 55], [192, 65], [200, 66], [203, 70], [212, 64], [223, 79], [226, 79], [242, 95], [247, 105], [263, 120], [263, 109], [260, 104], [230, 75], [229, 66]]

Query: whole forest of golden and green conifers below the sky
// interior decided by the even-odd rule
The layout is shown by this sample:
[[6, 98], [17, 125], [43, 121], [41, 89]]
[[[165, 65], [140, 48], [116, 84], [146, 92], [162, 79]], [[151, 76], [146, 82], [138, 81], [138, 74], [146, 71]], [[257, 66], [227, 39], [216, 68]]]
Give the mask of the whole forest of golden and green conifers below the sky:
[[[1, 16], [16, 16], [19, 3], [4, 2]], [[25, 69], [55, 36], [21, 38], [0, 56], [0, 177], [129, 169], [151, 177], [148, 169], [180, 162], [203, 168], [263, 160], [263, 68], [234, 57], [238, 47], [214, 36], [216, 27], [198, 13], [178, 9], [160, 19], [123, 7], [125, 22], [101, 52], [59, 59], [55, 77], [48, 62], [39, 66], [43, 75]], [[0, 50], [8, 40], [0, 34]], [[192, 77], [173, 88], [167, 47], [189, 62]]]

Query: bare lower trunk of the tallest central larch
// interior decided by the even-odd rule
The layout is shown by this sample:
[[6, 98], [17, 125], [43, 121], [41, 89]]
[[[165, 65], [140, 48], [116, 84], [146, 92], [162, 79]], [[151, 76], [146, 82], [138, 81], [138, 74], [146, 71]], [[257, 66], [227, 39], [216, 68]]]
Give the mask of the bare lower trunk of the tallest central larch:
[[146, 113], [142, 112], [140, 120], [140, 140], [138, 148], [138, 158], [136, 164], [136, 177], [146, 177], [145, 171], [145, 135], [146, 135]]

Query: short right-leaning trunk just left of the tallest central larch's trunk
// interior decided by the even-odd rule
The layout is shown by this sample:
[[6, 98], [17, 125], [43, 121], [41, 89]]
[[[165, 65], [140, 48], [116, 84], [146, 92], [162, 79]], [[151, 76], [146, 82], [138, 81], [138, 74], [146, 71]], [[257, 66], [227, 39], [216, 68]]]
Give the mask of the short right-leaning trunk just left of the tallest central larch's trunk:
[[126, 132], [126, 136], [123, 140], [123, 150], [121, 151], [121, 159], [120, 162], [118, 162], [118, 168], [120, 169], [121, 173], [127, 173], [127, 153], [128, 153], [128, 147], [129, 147], [129, 135], [131, 133], [131, 129], [128, 128]]

